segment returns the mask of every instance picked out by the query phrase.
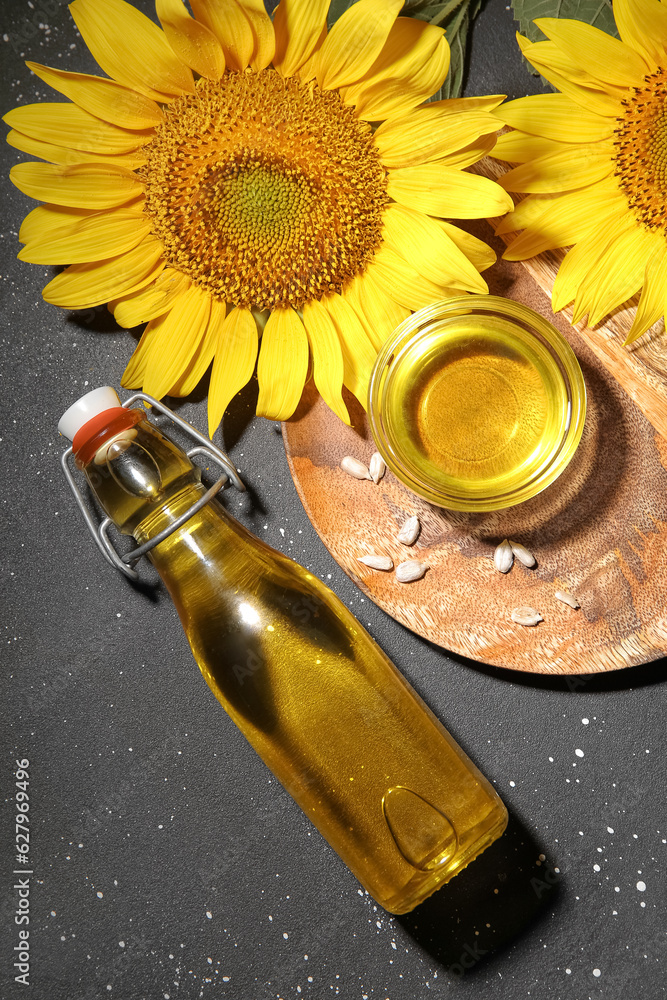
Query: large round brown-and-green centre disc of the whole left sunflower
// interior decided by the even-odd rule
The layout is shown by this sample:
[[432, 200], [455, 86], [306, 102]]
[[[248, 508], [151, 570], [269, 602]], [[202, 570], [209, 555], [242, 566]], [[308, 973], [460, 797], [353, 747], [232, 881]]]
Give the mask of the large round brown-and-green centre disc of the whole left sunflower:
[[385, 170], [336, 91], [274, 69], [201, 79], [145, 149], [145, 211], [167, 260], [224, 302], [300, 308], [382, 242]]

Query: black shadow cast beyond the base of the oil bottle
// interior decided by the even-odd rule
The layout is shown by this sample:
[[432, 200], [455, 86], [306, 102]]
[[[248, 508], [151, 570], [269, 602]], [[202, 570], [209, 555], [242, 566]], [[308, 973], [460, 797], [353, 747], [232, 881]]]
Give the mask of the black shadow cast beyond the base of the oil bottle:
[[474, 864], [395, 919], [450, 977], [462, 979], [550, 919], [563, 884], [558, 867], [510, 813], [503, 836]]

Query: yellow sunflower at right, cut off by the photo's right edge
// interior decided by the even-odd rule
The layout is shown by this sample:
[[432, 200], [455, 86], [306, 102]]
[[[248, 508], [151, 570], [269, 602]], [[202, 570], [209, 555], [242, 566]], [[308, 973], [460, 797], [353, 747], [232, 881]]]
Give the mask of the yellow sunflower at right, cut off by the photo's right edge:
[[497, 230], [523, 230], [505, 256], [572, 247], [553, 307], [574, 302], [590, 326], [641, 289], [630, 343], [667, 305], [667, 3], [614, 0], [614, 17], [620, 39], [552, 18], [535, 21], [548, 41], [518, 36], [560, 93], [504, 105], [516, 131], [493, 155], [519, 164], [500, 183], [528, 195]]

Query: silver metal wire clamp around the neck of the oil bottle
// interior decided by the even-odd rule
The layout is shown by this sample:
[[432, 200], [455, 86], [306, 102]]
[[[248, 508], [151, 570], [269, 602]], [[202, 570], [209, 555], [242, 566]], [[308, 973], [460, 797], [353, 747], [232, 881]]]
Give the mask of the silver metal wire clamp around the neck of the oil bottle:
[[134, 569], [135, 563], [137, 563], [142, 556], [146, 555], [147, 552], [150, 552], [154, 546], [163, 542], [165, 538], [168, 538], [169, 535], [180, 528], [181, 525], [185, 524], [185, 522], [188, 521], [193, 514], [196, 514], [197, 511], [201, 510], [202, 507], [209, 503], [216, 493], [219, 493], [227, 479], [230, 479], [238, 490], [245, 491], [242, 479], [232, 465], [229, 457], [225, 455], [224, 451], [221, 451], [220, 448], [216, 448], [216, 446], [212, 444], [208, 438], [205, 438], [203, 434], [201, 434], [191, 424], [187, 423], [187, 421], [183, 420], [182, 417], [173, 413], [169, 407], [164, 405], [164, 403], [160, 403], [157, 399], [154, 399], [152, 396], [148, 396], [144, 392], [136, 392], [133, 396], [130, 396], [129, 399], [126, 399], [122, 406], [129, 409], [137, 400], [142, 400], [142, 402], [155, 407], [155, 409], [169, 417], [170, 420], [173, 420], [173, 422], [180, 427], [182, 431], [194, 438], [195, 441], [199, 442], [195, 448], [191, 448], [188, 452], [186, 452], [188, 458], [192, 459], [195, 455], [205, 455], [206, 458], [215, 462], [222, 468], [223, 475], [216, 483], [213, 484], [213, 486], [211, 486], [209, 490], [206, 491], [203, 496], [192, 504], [191, 507], [188, 507], [188, 509], [179, 515], [179, 517], [177, 517], [170, 525], [160, 531], [153, 538], [149, 539], [147, 542], [144, 542], [143, 545], [139, 545], [132, 549], [131, 552], [121, 556], [114, 548], [108, 534], [109, 528], [113, 525], [113, 521], [110, 517], [105, 517], [99, 525], [96, 524], [95, 519], [88, 509], [86, 501], [76, 485], [74, 476], [72, 475], [72, 471], [69, 467], [69, 459], [71, 458], [73, 451], [72, 447], [70, 446], [65, 452], [63, 452], [60, 462], [63, 472], [65, 473], [65, 478], [72, 493], [74, 494], [74, 499], [76, 500], [79, 510], [83, 514], [86, 526], [93, 536], [93, 541], [107, 562], [130, 580], [139, 579], [139, 574]]

